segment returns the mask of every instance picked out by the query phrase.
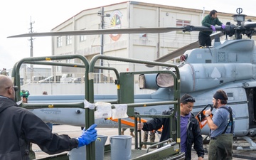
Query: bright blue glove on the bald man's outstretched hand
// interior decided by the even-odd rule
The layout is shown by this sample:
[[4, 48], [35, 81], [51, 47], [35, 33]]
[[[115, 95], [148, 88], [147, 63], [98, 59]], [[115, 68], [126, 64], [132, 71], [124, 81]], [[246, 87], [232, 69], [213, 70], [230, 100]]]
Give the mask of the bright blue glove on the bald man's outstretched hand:
[[82, 130], [82, 135], [78, 137], [78, 147], [85, 146], [97, 139], [97, 124], [92, 124], [88, 129]]

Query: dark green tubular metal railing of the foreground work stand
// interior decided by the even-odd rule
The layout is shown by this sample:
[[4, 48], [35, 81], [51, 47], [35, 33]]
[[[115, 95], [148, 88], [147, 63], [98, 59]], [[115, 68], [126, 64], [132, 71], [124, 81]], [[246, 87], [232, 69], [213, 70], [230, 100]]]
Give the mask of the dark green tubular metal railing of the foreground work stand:
[[[39, 62], [40, 60], [61, 60], [61, 59], [70, 59], [70, 58], [80, 58], [80, 60], [82, 60], [82, 62], [84, 63], [84, 65], [80, 65], [80, 64], [67, 64], [67, 63], [55, 63], [55, 62]], [[162, 70], [162, 71], [157, 71], [157, 73], [169, 73], [171, 75], [173, 75], [174, 77], [174, 87], [172, 88], [172, 92], [173, 92], [173, 97], [172, 98], [167, 98], [166, 100], [164, 99], [161, 102], [139, 102], [139, 103], [134, 103], [134, 90], [133, 87], [131, 87], [133, 85], [134, 82], [134, 75], [137, 74], [141, 74], [141, 73], [156, 73], [156, 71], [141, 71], [141, 72], [124, 72], [124, 73], [118, 73], [117, 70], [115, 68], [103, 68], [103, 67], [99, 67], [99, 66], [95, 66], [95, 62], [98, 59], [104, 59], [104, 60], [116, 60], [116, 61], [120, 61], [120, 62], [125, 62], [125, 63], [139, 63], [139, 64], [149, 64], [149, 65], [159, 65], [159, 66], [167, 66], [167, 67], [172, 67], [175, 70], [174, 72], [171, 72], [170, 70]], [[87, 100], [90, 103], [95, 103], [95, 93], [94, 93], [94, 81], [97, 80], [97, 76], [95, 76], [95, 68], [100, 68], [100, 69], [104, 69], [104, 70], [112, 70], [115, 74], [116, 74], [116, 82], [115, 84], [117, 85], [117, 101], [114, 104], [127, 104], [128, 107], [128, 112], [127, 114], [130, 117], [134, 117], [135, 120], [137, 120], [137, 118], [139, 117], [151, 117], [149, 115], [135, 115], [134, 113], [134, 107], [149, 107], [149, 106], [158, 106], [158, 105], [174, 105], [174, 113], [171, 115], [155, 115], [155, 117], [165, 117], [165, 118], [169, 118], [169, 117], [174, 117], [174, 115], [176, 114], [177, 116], [177, 121], [176, 124], [179, 124], [179, 119], [180, 119], [180, 108], [179, 108], [179, 98], [180, 98], [180, 74], [179, 74], [179, 70], [178, 67], [176, 65], [171, 65], [169, 63], [157, 63], [157, 62], [153, 62], [153, 61], [148, 61], [148, 60], [137, 60], [137, 59], [132, 59], [132, 58], [117, 58], [117, 57], [112, 57], [112, 56], [106, 56], [106, 55], [95, 55], [92, 60], [90, 61], [90, 64], [88, 63], [87, 59], [81, 55], [62, 55], [62, 56], [50, 56], [47, 58], [44, 57], [39, 57], [39, 58], [23, 58], [22, 60], [20, 60], [18, 63], [16, 63], [16, 65], [14, 66], [14, 72], [12, 73], [12, 78], [14, 78], [14, 85], [18, 86], [18, 92], [21, 92], [21, 86], [20, 86], [20, 74], [19, 74], [19, 70], [21, 67], [22, 63], [33, 63], [33, 64], [43, 64], [43, 65], [63, 65], [63, 66], [68, 66], [68, 67], [79, 67], [79, 68], [85, 68], [86, 72], [84, 73], [85, 75], [85, 100]], [[68, 75], [69, 73], [65, 73], [67, 74], [66, 77], [70, 78], [72, 76]], [[103, 74], [104, 75], [104, 74]], [[60, 75], [59, 75], [60, 76]], [[56, 75], [53, 75], [53, 77], [55, 77], [54, 81], [57, 81], [58, 78], [56, 77]], [[63, 78], [63, 77], [62, 77]], [[83, 78], [83, 77], [81, 77]], [[100, 79], [99, 81], [102, 82], [102, 79], [105, 80], [104, 76], [99, 75], [98, 79]], [[44, 79], [45, 80], [45, 79]], [[107, 79], [106, 79], [107, 80]], [[113, 79], [112, 79], [113, 80]], [[82, 80], [81, 80], [82, 81]], [[111, 78], [110, 78], [111, 81]], [[21, 100], [21, 96], [20, 94], [16, 94], [16, 101]], [[95, 110], [90, 110], [89, 108], [85, 107], [84, 102], [77, 102], [77, 103], [57, 103], [57, 104], [29, 104], [29, 103], [21, 103], [20, 105], [21, 107], [24, 108], [68, 108], [68, 107], [78, 107], [81, 109], [85, 110], [85, 128], [90, 127], [90, 125], [95, 123]], [[132, 112], [131, 112], [132, 111]], [[153, 115], [152, 115], [153, 117]], [[120, 119], [118, 119], [118, 127], [119, 127], [119, 134], [120, 134], [120, 129], [121, 129], [121, 122]], [[171, 118], [170, 118], [170, 122], [171, 122]], [[135, 128], [137, 129], [137, 122], [134, 122], [135, 124]], [[181, 154], [180, 152], [180, 126], [176, 125], [176, 127], [174, 127], [174, 125], [172, 123], [170, 123], [170, 128], [174, 129], [171, 130], [173, 132], [173, 134], [175, 134], [174, 136], [174, 141], [177, 142], [176, 146], [171, 146], [170, 150], [165, 151], [165, 153], [167, 153], [170, 156], [173, 155], [178, 155]], [[174, 132], [175, 131], [175, 132]], [[136, 132], [136, 136], [137, 136], [137, 132]], [[170, 135], [170, 137], [173, 137], [172, 135]], [[141, 135], [140, 135], [140, 139], [141, 139]], [[172, 151], [172, 152], [171, 152]], [[154, 153], [153, 156], [155, 156], [156, 154], [159, 153]], [[137, 157], [136, 159], [144, 159], [144, 157], [147, 156], [151, 156], [151, 155], [145, 155], [143, 157]], [[55, 157], [56, 159], [58, 159], [57, 157]], [[53, 159], [55, 159], [53, 158]], [[91, 144], [88, 144], [86, 147], [86, 159], [95, 159], [95, 142], [92, 142]]]

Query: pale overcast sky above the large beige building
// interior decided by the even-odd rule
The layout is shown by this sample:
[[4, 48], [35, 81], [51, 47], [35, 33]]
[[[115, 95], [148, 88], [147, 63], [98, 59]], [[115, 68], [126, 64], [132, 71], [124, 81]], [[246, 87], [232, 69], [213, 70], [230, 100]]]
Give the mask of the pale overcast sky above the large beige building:
[[[13, 68], [14, 63], [22, 58], [30, 57], [30, 42], [28, 38], [6, 38], [21, 33], [28, 33], [29, 23], [34, 21], [33, 31], [50, 31], [58, 24], [78, 14], [84, 9], [105, 6], [123, 2], [125, 0], [9, 0], [0, 2], [0, 70]], [[141, 0], [138, 0], [141, 1]], [[243, 0], [244, 4], [234, 0], [142, 0], [151, 4], [165, 4], [168, 6], [181, 6], [191, 9], [203, 9], [210, 11], [235, 14], [240, 7], [242, 14], [256, 16], [255, 0]], [[100, 21], [100, 18], [99, 18]], [[224, 22], [223, 22], [224, 23]], [[38, 37], [33, 42], [33, 56], [50, 55], [50, 38]]]

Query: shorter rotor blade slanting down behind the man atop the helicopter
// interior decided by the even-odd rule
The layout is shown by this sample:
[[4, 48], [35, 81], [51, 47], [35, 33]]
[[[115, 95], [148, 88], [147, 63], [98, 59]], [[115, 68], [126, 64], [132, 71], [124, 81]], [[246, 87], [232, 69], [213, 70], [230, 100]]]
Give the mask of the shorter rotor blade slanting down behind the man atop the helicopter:
[[[215, 38], [215, 36], [223, 36], [224, 33], [222, 32], [217, 32], [217, 33], [213, 33], [210, 35], [210, 39], [213, 40]], [[156, 62], [166, 62], [167, 60], [171, 60], [171, 59], [174, 59], [180, 55], [183, 55], [183, 53], [186, 52], [186, 50], [191, 50], [193, 48], [199, 48], [199, 41], [196, 41], [196, 42], [193, 42], [193, 43], [189, 43], [188, 45], [186, 46], [183, 46], [181, 48], [178, 48], [176, 50], [174, 50], [173, 52], [171, 53], [168, 53], [160, 58], [157, 58]], [[154, 65], [146, 65], [146, 67], [149, 67], [149, 68], [152, 68], [154, 67]]]

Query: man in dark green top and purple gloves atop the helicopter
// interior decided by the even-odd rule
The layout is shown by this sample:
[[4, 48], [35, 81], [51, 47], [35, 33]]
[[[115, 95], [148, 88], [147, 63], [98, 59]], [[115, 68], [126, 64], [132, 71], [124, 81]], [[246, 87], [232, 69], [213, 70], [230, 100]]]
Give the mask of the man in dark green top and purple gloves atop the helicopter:
[[[217, 24], [218, 26], [221, 26], [221, 28], [225, 28], [225, 25], [221, 23], [218, 19], [217, 11], [213, 10], [210, 11], [210, 13], [203, 18], [202, 25], [207, 26], [213, 29], [213, 31], [216, 31], [215, 25]], [[204, 46], [211, 46], [211, 39], [210, 39], [210, 34], [213, 33], [212, 31], [200, 31], [199, 32], [199, 44], [201, 47]]]

